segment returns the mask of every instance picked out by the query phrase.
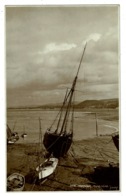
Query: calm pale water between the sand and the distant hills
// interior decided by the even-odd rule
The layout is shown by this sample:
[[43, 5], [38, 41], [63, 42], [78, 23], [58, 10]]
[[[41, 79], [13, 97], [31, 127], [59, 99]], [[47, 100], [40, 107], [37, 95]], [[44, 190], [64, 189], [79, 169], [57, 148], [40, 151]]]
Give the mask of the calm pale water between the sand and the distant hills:
[[[7, 111], [7, 123], [12, 130], [18, 132], [19, 136], [21, 136], [23, 132], [28, 134], [25, 139], [20, 137], [18, 143], [37, 142], [39, 140], [39, 118], [41, 118], [41, 129], [44, 134], [53, 123], [57, 113], [58, 111], [9, 109]], [[99, 134], [113, 133], [115, 130], [111, 126], [118, 127], [118, 122], [98, 119]], [[75, 112], [74, 140], [82, 140], [94, 137], [95, 135], [95, 115], [85, 112]]]

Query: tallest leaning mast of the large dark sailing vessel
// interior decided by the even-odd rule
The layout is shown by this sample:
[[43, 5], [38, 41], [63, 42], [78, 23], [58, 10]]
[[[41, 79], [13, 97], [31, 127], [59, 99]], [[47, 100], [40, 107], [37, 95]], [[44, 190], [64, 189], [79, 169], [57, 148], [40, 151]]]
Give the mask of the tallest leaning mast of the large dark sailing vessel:
[[83, 49], [83, 53], [82, 53], [81, 60], [80, 60], [79, 66], [78, 66], [77, 74], [76, 74], [76, 76], [74, 78], [74, 81], [73, 81], [73, 84], [72, 84], [72, 88], [70, 90], [70, 98], [69, 98], [69, 101], [68, 101], [68, 105], [67, 105], [67, 109], [66, 109], [66, 113], [65, 113], [65, 117], [64, 117], [64, 121], [63, 121], [63, 124], [62, 124], [62, 127], [61, 127], [60, 134], [63, 133], [64, 126], [65, 126], [65, 123], [66, 123], [66, 119], [67, 119], [67, 117], [69, 115], [71, 101], [72, 101], [73, 93], [74, 93], [74, 90], [75, 90], [75, 86], [76, 86], [76, 82], [77, 82], [77, 78], [78, 78], [78, 73], [79, 73], [79, 70], [80, 70], [80, 67], [81, 67], [81, 63], [82, 63], [82, 60], [83, 60], [83, 57], [84, 57], [86, 45], [87, 45], [87, 43], [85, 44], [85, 47]]

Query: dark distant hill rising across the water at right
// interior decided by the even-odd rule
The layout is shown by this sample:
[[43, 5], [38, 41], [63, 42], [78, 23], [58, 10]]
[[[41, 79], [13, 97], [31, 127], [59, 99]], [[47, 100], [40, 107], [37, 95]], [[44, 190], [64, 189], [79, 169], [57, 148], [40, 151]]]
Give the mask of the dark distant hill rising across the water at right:
[[78, 105], [76, 108], [118, 108], [118, 99], [102, 99], [102, 100], [86, 100]]

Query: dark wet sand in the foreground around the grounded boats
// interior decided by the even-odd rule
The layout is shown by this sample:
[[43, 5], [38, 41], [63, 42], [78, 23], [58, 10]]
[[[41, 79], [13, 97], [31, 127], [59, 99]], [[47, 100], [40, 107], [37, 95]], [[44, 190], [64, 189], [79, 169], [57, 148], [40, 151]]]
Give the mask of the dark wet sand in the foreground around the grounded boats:
[[40, 160], [37, 143], [8, 145], [7, 176], [25, 175], [24, 191], [119, 190], [119, 152], [109, 135], [74, 141], [55, 173], [38, 185], [33, 174], [44, 153], [43, 148]]

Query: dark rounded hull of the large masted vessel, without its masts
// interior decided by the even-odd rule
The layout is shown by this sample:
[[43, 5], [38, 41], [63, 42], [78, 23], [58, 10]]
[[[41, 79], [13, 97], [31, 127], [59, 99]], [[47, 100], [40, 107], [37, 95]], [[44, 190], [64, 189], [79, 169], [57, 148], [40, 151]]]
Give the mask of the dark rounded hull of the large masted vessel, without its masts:
[[46, 150], [56, 158], [63, 157], [69, 150], [72, 143], [72, 134], [58, 135], [46, 132], [43, 144]]

